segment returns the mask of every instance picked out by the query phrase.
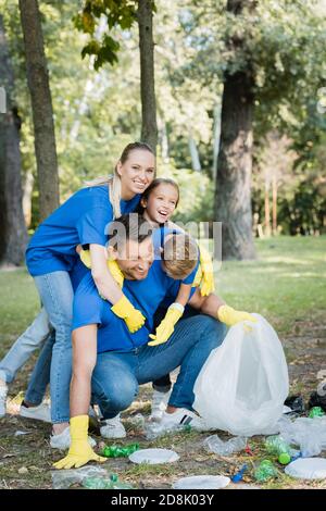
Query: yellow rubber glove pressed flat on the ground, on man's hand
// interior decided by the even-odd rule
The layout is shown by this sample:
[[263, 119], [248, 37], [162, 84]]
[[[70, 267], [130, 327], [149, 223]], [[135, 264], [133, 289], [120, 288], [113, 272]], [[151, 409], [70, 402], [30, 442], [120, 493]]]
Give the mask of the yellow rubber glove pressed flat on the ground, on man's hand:
[[89, 461], [103, 463], [106, 458], [98, 456], [88, 444], [88, 415], [77, 415], [71, 419], [71, 448], [65, 458], [53, 463], [55, 469], [72, 469], [86, 465]]

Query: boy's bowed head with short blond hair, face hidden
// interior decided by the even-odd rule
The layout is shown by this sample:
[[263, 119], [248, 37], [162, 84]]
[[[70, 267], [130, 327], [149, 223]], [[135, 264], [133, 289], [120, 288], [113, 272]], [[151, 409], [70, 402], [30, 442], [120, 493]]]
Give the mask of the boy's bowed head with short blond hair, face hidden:
[[167, 275], [176, 281], [195, 270], [198, 257], [198, 245], [188, 234], [173, 234], [164, 244], [162, 260]]

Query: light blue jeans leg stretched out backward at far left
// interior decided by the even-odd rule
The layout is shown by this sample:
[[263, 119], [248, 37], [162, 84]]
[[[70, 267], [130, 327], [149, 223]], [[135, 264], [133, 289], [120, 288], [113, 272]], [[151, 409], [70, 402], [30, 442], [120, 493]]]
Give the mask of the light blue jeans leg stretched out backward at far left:
[[[42, 308], [30, 326], [22, 334], [0, 362], [0, 378], [11, 383], [30, 354], [40, 348], [51, 332], [48, 314]], [[34, 401], [33, 401], [34, 402]]]

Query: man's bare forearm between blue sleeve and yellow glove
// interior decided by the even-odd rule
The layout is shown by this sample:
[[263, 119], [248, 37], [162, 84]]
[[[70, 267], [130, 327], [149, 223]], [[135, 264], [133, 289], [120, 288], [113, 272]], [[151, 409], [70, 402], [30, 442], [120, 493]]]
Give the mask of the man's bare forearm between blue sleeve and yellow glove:
[[97, 362], [98, 325], [86, 325], [73, 332], [73, 376], [71, 416], [88, 415], [91, 375]]

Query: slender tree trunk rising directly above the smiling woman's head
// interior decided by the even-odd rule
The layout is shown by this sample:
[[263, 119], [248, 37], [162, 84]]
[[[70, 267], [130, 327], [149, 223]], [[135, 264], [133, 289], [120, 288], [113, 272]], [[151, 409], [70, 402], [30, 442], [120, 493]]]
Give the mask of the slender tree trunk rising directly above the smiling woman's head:
[[138, 1], [140, 50], [141, 140], [156, 151], [158, 124], [154, 80], [153, 2]]

